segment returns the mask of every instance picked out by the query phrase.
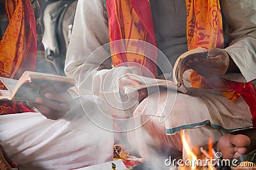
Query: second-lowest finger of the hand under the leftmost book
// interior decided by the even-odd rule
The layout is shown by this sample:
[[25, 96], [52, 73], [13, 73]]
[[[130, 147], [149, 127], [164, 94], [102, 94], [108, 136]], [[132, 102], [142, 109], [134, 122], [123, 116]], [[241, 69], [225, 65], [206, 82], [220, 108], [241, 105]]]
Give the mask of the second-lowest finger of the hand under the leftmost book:
[[59, 103], [59, 102], [52, 101], [52, 100], [49, 100], [49, 99], [44, 99], [42, 97], [36, 97], [35, 102], [37, 104], [40, 104], [40, 106], [45, 106], [47, 108], [50, 108], [51, 110], [56, 110], [56, 111], [65, 111], [65, 112], [67, 112], [71, 108], [70, 103]]

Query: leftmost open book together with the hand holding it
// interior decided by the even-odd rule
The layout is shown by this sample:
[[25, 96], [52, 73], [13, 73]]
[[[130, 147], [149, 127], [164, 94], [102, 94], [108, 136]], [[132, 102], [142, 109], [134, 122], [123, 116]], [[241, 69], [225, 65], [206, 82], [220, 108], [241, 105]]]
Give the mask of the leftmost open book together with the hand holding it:
[[42, 115], [56, 120], [70, 110], [72, 96], [68, 89], [73, 78], [26, 71], [19, 80], [0, 78], [7, 90], [0, 90], [0, 99], [27, 101]]

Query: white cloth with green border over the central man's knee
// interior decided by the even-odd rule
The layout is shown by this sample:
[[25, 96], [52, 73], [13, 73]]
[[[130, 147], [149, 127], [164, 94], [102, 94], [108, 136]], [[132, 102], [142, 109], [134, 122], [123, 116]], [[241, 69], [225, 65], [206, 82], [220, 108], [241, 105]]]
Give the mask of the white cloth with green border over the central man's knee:
[[[184, 74], [186, 84], [189, 74], [190, 71]], [[182, 150], [179, 133], [182, 129], [189, 136], [191, 147], [207, 148], [209, 138], [216, 143], [225, 133], [252, 127], [250, 108], [242, 98], [234, 104], [214, 90], [189, 88], [189, 91], [193, 96], [161, 91], [148, 96], [136, 108], [135, 126], [143, 128], [129, 132], [128, 139], [143, 158], [152, 155], [152, 146]]]

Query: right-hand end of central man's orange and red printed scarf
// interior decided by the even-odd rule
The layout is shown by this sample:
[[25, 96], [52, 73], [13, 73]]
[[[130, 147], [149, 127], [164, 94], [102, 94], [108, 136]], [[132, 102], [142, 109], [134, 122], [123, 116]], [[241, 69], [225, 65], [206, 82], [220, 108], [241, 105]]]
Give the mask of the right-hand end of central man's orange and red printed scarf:
[[[220, 1], [218, 0], [186, 0], [187, 6], [187, 39], [188, 50], [197, 47], [211, 49], [224, 48], [223, 21]], [[253, 127], [256, 127], [255, 87], [251, 82], [239, 83], [220, 78], [218, 83], [209, 83], [196, 71], [190, 74], [191, 85], [197, 88], [214, 89], [223, 94], [232, 103], [243, 97], [252, 113]], [[218, 85], [216, 85], [218, 84]]]

